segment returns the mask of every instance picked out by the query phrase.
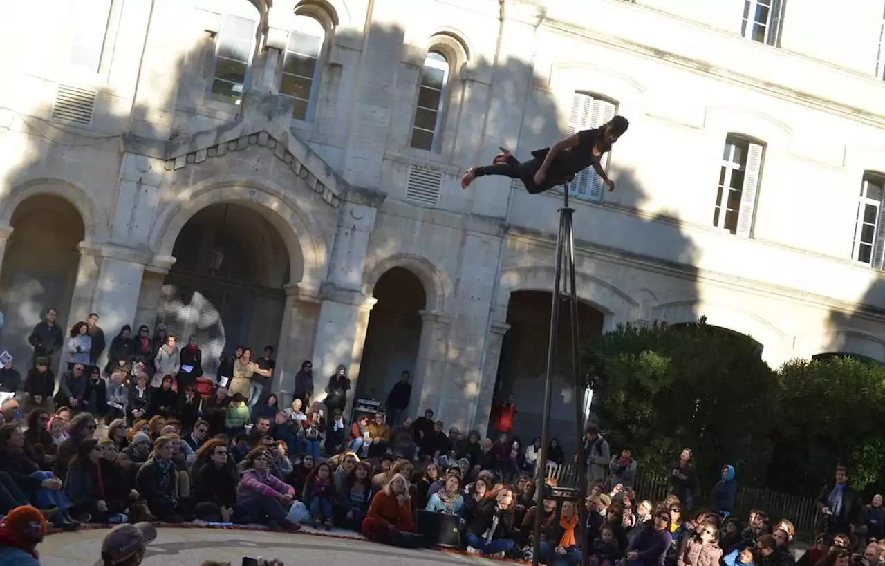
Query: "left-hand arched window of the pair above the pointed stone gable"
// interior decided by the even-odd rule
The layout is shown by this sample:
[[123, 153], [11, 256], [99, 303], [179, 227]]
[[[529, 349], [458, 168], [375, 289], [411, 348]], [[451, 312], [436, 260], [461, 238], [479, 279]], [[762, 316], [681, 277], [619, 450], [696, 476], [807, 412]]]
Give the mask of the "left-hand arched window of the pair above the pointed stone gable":
[[227, 4], [231, 10], [223, 15], [215, 41], [212, 98], [239, 104], [255, 51], [258, 11], [245, 0]]

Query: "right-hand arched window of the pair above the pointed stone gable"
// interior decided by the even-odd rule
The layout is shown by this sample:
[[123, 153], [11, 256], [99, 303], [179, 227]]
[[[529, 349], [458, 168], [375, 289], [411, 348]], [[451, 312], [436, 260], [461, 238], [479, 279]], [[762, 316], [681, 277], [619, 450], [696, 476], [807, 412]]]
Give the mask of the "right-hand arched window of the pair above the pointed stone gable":
[[319, 90], [320, 55], [326, 29], [310, 15], [296, 15], [289, 30], [289, 43], [283, 59], [280, 92], [295, 99], [292, 118], [310, 119]]

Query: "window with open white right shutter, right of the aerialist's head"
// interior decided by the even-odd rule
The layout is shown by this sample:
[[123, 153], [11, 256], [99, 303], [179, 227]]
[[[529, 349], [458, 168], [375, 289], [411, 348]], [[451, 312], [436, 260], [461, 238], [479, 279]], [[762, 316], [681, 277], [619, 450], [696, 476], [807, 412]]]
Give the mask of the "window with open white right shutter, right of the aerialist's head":
[[713, 206], [713, 226], [749, 238], [756, 216], [756, 198], [765, 147], [728, 134], [722, 151], [720, 179]]

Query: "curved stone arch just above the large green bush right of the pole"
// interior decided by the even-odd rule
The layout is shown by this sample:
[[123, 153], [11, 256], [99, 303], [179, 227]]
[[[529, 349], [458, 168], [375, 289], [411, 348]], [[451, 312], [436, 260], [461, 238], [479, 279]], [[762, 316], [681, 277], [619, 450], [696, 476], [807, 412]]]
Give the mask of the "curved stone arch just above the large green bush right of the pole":
[[781, 363], [789, 357], [790, 348], [785, 344], [787, 337], [781, 329], [749, 310], [697, 300], [666, 302], [652, 309], [653, 320], [672, 325], [696, 323], [700, 317], [707, 317], [710, 325], [721, 326], [758, 341], [764, 347], [762, 357], [766, 361]]

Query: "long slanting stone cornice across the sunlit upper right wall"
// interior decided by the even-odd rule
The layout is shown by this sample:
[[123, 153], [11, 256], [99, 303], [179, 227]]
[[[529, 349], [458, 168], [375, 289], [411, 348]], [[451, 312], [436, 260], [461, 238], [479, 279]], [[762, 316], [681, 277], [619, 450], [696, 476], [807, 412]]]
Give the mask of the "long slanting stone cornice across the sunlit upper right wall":
[[[551, 30], [562, 32], [565, 34], [576, 35], [581, 37], [583, 41], [593, 42], [597, 45], [608, 47], [611, 49], [629, 51], [635, 55], [650, 57], [658, 62], [679, 66], [682, 69], [689, 70], [693, 73], [704, 74], [715, 80], [732, 82], [739, 84], [745, 88], [754, 88], [760, 92], [764, 92], [770, 96], [777, 96], [782, 100], [792, 103], [803, 104], [804, 106], [815, 110], [824, 111], [829, 114], [849, 118], [868, 126], [885, 127], [885, 116], [866, 111], [862, 108], [850, 106], [837, 100], [825, 98], [823, 96], [815, 96], [811, 93], [794, 90], [782, 85], [773, 84], [766, 80], [759, 80], [756, 77], [744, 73], [735, 73], [726, 67], [720, 65], [712, 65], [711, 63], [696, 59], [693, 57], [685, 57], [673, 52], [666, 52], [652, 48], [643, 43], [632, 42], [610, 34], [600, 34], [596, 30], [590, 30], [569, 21], [551, 18], [545, 16], [543, 26], [549, 27]], [[833, 65], [827, 65], [833, 66]], [[848, 70], [836, 67], [839, 71], [847, 75], [856, 75]]]

